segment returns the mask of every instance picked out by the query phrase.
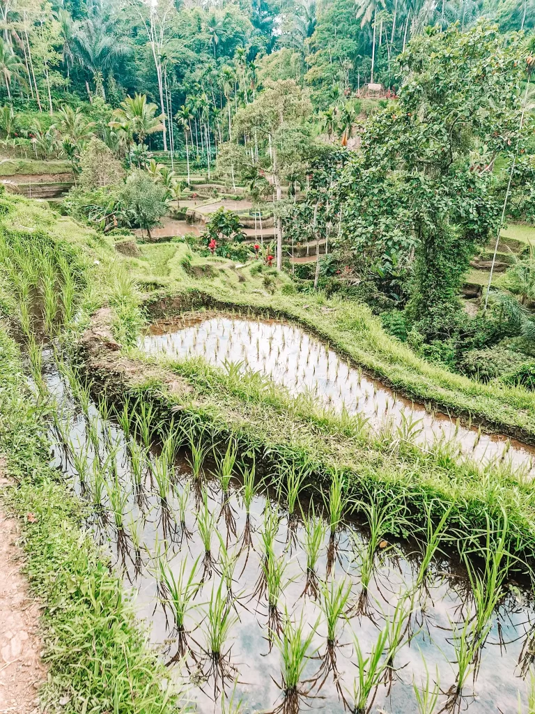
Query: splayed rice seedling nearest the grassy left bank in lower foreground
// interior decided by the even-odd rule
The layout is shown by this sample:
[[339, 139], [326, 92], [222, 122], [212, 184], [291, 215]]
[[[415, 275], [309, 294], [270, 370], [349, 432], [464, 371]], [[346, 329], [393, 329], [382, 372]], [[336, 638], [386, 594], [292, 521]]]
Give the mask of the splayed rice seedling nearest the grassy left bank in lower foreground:
[[193, 563], [189, 574], [186, 574], [187, 561], [185, 558], [180, 561], [176, 574], [173, 572], [170, 563], [166, 560], [162, 563], [161, 573], [166, 590], [165, 605], [168, 605], [171, 613], [173, 613], [174, 633], [177, 643], [177, 651], [172, 661], [183, 658], [188, 652], [188, 633], [185, 629], [185, 617], [192, 608], [195, 608], [192, 603], [200, 587], [200, 583], [195, 580], [199, 560], [200, 556]]

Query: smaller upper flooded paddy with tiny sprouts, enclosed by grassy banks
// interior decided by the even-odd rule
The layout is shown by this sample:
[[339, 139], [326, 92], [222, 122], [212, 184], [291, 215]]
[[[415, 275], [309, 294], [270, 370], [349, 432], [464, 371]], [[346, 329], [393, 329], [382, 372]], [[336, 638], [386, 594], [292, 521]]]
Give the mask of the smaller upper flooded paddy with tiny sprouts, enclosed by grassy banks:
[[294, 393], [310, 391], [328, 406], [360, 413], [377, 431], [389, 424], [403, 430], [409, 420], [420, 443], [454, 439], [459, 452], [478, 461], [507, 458], [526, 471], [533, 466], [533, 448], [505, 436], [480, 434], [445, 414], [428, 413], [421, 404], [397, 396], [348, 366], [320, 340], [292, 325], [223, 316], [162, 321], [151, 326], [140, 346], [178, 358], [203, 356], [218, 366], [242, 362], [243, 368], [260, 371]]

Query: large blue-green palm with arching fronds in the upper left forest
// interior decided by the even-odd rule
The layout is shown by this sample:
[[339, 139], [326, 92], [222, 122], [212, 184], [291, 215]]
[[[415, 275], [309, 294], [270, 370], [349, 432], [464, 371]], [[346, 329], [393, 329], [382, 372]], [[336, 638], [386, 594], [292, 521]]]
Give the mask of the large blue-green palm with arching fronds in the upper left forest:
[[117, 36], [111, 21], [104, 21], [98, 15], [88, 17], [78, 27], [75, 40], [76, 61], [91, 72], [96, 92], [106, 99], [102, 84], [104, 73], [131, 54], [131, 46]]

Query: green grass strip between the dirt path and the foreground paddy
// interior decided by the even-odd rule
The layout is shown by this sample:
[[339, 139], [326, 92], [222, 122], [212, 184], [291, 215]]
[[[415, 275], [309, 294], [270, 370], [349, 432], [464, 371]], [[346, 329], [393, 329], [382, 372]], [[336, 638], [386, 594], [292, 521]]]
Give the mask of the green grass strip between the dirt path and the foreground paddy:
[[18, 348], [3, 328], [0, 385], [0, 453], [14, 479], [1, 500], [20, 518], [31, 593], [44, 605], [49, 678], [42, 700], [58, 710], [67, 697], [65, 714], [177, 711], [175, 694], [164, 686], [168, 672], [148, 649], [121, 582], [80, 528], [80, 502], [48, 466], [46, 408], [32, 402]]

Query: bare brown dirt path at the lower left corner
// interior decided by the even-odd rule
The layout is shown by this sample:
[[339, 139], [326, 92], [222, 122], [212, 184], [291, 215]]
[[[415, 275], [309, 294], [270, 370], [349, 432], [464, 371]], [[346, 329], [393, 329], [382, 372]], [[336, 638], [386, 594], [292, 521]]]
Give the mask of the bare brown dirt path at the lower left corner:
[[[7, 479], [0, 457], [0, 488]], [[17, 523], [0, 510], [0, 714], [37, 714], [37, 690], [46, 678], [37, 637], [39, 603], [21, 573]]]

